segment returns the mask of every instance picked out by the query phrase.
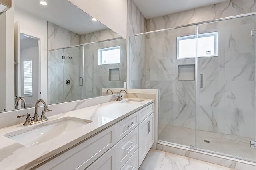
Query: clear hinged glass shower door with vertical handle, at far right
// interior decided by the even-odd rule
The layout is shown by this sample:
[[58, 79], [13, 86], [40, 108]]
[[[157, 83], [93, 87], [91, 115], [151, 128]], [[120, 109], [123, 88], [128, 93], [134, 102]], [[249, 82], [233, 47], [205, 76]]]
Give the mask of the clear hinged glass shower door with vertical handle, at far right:
[[[255, 27], [256, 16], [198, 25], [198, 37], [218, 33], [218, 55], [198, 57], [197, 150], [256, 161], [256, 150], [250, 147], [256, 133], [255, 36], [251, 36]], [[210, 47], [200, 48], [198, 44], [198, 54], [214, 53]]]

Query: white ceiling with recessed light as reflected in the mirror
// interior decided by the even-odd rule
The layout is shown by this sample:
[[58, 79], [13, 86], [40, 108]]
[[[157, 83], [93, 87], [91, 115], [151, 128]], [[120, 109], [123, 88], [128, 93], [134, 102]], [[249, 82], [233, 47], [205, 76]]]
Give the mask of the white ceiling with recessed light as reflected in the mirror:
[[79, 35], [107, 29], [99, 21], [92, 21], [90, 15], [74, 6], [68, 0], [45, 0], [48, 3], [47, 6], [40, 5], [39, 0], [14, 1], [15, 8], [20, 8], [44, 18]]

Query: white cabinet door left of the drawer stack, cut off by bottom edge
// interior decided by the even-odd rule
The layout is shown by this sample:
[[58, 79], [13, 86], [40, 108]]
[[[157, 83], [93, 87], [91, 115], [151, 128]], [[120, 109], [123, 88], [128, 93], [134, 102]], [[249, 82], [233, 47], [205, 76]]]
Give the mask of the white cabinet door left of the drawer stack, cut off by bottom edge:
[[116, 146], [100, 156], [85, 170], [116, 170]]

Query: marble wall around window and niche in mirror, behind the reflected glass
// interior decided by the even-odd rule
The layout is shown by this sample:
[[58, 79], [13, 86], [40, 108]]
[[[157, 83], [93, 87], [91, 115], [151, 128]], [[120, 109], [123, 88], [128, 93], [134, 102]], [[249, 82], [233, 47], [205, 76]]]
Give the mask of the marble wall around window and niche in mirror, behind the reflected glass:
[[[98, 49], [120, 45], [120, 64], [98, 65]], [[123, 88], [126, 82], [126, 40], [84, 45], [84, 98], [101, 96], [102, 88]], [[109, 81], [109, 69], [119, 68], [119, 81]]]

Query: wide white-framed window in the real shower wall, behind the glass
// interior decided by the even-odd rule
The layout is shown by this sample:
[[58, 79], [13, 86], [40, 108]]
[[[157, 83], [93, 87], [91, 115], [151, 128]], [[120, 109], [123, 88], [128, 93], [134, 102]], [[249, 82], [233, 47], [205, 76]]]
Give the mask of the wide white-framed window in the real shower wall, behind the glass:
[[[218, 32], [198, 34], [197, 56], [218, 56]], [[177, 59], [196, 57], [196, 35], [177, 37]]]

